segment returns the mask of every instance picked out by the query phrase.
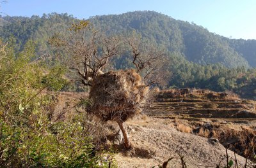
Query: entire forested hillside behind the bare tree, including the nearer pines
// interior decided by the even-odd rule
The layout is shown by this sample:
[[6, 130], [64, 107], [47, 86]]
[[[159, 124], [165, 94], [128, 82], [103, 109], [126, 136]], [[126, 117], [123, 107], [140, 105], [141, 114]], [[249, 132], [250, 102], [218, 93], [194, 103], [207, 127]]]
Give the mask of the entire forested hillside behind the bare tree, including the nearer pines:
[[[37, 55], [51, 53], [48, 39], [56, 32], [68, 34], [72, 15], [51, 13], [42, 17], [1, 17], [0, 36], [12, 41], [17, 52], [31, 39]], [[166, 50], [170, 71], [167, 87], [233, 90], [244, 97], [256, 95], [256, 40], [228, 39], [202, 26], [175, 20], [154, 11], [134, 11], [122, 15], [89, 18], [95, 29], [106, 34], [129, 34], [136, 31], [143, 40]], [[131, 67], [127, 55], [113, 60], [116, 69]], [[248, 69], [249, 68], [249, 69]]]

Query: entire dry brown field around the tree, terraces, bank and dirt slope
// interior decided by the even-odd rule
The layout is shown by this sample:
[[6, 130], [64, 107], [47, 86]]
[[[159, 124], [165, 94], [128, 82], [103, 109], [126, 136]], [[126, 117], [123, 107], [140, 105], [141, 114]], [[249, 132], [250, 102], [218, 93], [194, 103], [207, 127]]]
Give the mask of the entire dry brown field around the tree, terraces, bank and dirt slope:
[[[61, 93], [56, 116], [64, 111], [61, 120], [72, 118], [70, 107], [86, 96]], [[209, 90], [166, 90], [159, 92], [143, 113], [126, 122], [133, 149], [114, 145], [118, 167], [153, 167], [172, 157], [168, 167], [182, 167], [180, 156], [187, 167], [225, 166], [225, 147], [230, 149], [228, 159], [237, 158], [239, 167], [244, 167], [244, 157], [252, 158], [246, 152], [256, 135], [255, 101]], [[108, 125], [115, 127], [113, 133], [119, 130], [115, 122]], [[253, 167], [252, 162], [248, 161], [247, 167]]]

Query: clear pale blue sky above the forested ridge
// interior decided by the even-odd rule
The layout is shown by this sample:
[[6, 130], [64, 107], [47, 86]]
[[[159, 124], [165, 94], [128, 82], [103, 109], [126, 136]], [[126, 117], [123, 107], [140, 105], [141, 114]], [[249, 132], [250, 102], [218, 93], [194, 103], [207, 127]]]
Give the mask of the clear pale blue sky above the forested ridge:
[[0, 6], [3, 16], [26, 17], [56, 12], [89, 18], [150, 10], [228, 38], [256, 39], [255, 0], [7, 0]]

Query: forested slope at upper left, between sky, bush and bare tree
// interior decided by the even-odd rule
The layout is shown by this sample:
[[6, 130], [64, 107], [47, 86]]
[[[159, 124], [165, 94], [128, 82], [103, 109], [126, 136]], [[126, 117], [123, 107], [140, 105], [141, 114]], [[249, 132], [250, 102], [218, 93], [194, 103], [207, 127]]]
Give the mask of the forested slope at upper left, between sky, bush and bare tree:
[[[4, 20], [4, 21], [3, 21]], [[69, 25], [76, 20], [71, 15], [51, 13], [42, 17], [2, 17], [0, 37], [15, 40], [16, 50], [22, 50], [29, 39], [37, 42], [36, 52], [40, 55], [49, 51], [47, 40], [54, 32], [67, 32]], [[12, 40], [11, 40], [12, 41]]]

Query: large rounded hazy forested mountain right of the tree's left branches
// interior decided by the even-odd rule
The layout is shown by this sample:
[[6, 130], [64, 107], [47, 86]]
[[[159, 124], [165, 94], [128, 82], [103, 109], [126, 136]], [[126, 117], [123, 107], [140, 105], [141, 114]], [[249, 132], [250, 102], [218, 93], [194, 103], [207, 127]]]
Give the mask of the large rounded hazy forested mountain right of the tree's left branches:
[[[144, 38], [165, 46], [170, 52], [178, 52], [200, 64], [220, 62], [227, 67], [245, 66], [248, 62], [223, 37], [202, 26], [154, 11], [134, 11], [122, 15], [97, 16], [90, 19], [104, 31], [120, 33], [136, 30]], [[256, 66], [256, 64], [255, 64]]]

